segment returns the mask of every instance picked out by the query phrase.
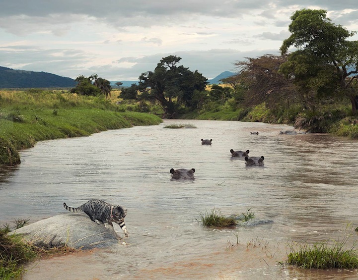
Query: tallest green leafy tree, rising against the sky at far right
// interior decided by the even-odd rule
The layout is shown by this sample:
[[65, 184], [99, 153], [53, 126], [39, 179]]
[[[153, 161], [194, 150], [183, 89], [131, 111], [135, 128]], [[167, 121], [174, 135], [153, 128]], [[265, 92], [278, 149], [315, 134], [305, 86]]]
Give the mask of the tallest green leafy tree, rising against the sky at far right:
[[[307, 96], [340, 94], [358, 111], [358, 41], [348, 38], [356, 34], [326, 17], [325, 10], [302, 9], [291, 16], [291, 33], [281, 46], [282, 55], [288, 55], [281, 72]], [[288, 49], [295, 51], [289, 53]]]

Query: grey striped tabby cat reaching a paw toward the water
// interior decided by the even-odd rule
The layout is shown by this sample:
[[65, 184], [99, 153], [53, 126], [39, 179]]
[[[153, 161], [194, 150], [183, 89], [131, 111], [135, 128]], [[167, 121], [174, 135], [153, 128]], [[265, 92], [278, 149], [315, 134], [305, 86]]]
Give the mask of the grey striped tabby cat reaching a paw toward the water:
[[86, 213], [94, 223], [100, 224], [100, 222], [102, 222], [105, 228], [109, 228], [110, 225], [112, 225], [112, 222], [119, 224], [124, 234], [127, 237], [129, 236], [126, 224], [124, 223], [124, 217], [127, 215], [127, 209], [123, 209], [122, 206], [111, 205], [99, 199], [91, 199], [77, 208], [69, 207], [64, 202], [64, 207], [70, 212]]

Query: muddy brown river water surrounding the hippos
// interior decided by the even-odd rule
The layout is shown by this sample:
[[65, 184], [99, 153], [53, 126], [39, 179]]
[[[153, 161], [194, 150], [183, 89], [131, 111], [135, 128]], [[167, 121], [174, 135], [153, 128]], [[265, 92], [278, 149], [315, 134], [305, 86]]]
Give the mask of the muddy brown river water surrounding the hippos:
[[[171, 123], [197, 128], [166, 129]], [[292, 242], [358, 241], [358, 141], [330, 135], [280, 135], [286, 125], [164, 120], [160, 125], [44, 141], [0, 169], [0, 223], [35, 222], [90, 198], [128, 209], [127, 245], [26, 266], [32, 279], [358, 279], [354, 270], [280, 266]], [[250, 135], [259, 131], [259, 135]], [[201, 139], [213, 139], [211, 146]], [[230, 149], [264, 156], [246, 167]], [[171, 181], [170, 168], [195, 168]], [[273, 223], [208, 229], [213, 209]], [[123, 237], [119, 226], [116, 231]]]

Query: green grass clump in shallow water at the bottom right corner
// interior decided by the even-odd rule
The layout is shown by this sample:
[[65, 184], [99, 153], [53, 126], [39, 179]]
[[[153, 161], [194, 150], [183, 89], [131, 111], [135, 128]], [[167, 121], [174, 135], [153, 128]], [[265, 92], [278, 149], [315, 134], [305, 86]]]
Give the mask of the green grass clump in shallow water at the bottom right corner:
[[329, 246], [328, 241], [316, 242], [312, 245], [298, 243], [290, 246], [287, 264], [304, 269], [357, 269], [358, 251], [354, 244], [350, 249], [344, 247], [349, 237]]

